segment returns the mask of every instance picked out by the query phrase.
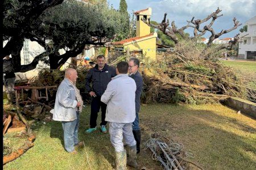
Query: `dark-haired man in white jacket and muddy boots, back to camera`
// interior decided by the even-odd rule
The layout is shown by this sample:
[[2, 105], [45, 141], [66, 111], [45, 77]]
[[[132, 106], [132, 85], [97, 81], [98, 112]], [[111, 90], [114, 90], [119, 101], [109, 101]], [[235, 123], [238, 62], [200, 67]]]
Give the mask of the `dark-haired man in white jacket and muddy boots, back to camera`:
[[[131, 125], [135, 120], [135, 91], [134, 79], [127, 75], [128, 63], [117, 64], [117, 76], [109, 82], [101, 101], [107, 104], [105, 121], [109, 122], [110, 141], [115, 148], [117, 169], [126, 169], [126, 164], [137, 168], [137, 148]], [[123, 147], [122, 139], [127, 144]]]

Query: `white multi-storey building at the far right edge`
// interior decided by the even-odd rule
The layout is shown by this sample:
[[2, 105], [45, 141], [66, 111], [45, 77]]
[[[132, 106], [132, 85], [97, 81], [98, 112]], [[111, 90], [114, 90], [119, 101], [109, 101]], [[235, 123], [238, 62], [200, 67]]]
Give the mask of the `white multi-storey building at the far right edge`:
[[[239, 43], [238, 57], [245, 59], [255, 59], [256, 57], [256, 16], [245, 22], [247, 32], [242, 32], [240, 36], [245, 36]], [[248, 35], [247, 35], [248, 34]]]

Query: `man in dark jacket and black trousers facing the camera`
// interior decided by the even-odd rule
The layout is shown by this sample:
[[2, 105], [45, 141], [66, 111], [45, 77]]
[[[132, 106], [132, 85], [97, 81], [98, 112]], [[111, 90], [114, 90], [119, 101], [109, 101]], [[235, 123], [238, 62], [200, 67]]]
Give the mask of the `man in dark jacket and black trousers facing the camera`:
[[[105, 57], [97, 57], [97, 65], [89, 70], [85, 78], [85, 90], [93, 97], [90, 112], [90, 128], [86, 133], [92, 133], [96, 130], [98, 112], [101, 108], [101, 131], [107, 133], [105, 121], [106, 104], [101, 102], [101, 96], [104, 94], [110, 80], [116, 75], [115, 68], [105, 63]], [[92, 82], [92, 87], [90, 83]]]

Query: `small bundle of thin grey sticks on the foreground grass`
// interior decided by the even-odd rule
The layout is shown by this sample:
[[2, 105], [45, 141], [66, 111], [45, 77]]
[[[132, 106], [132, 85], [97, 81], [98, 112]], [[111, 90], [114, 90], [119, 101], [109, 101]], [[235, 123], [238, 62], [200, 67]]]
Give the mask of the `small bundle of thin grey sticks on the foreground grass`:
[[186, 160], [192, 154], [184, 151], [182, 144], [160, 137], [158, 134], [153, 134], [152, 138], [148, 139], [145, 149], [152, 152], [152, 158], [158, 160], [164, 169], [188, 169], [189, 164], [203, 169], [200, 165]]

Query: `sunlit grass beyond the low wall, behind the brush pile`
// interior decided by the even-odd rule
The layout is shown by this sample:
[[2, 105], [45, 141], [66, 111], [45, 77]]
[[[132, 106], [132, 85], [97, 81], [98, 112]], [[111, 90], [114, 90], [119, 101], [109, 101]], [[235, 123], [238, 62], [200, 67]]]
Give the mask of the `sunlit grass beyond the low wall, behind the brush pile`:
[[221, 61], [226, 66], [233, 67], [238, 75], [245, 80], [246, 85], [251, 88], [256, 88], [256, 61]]

